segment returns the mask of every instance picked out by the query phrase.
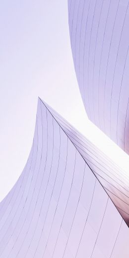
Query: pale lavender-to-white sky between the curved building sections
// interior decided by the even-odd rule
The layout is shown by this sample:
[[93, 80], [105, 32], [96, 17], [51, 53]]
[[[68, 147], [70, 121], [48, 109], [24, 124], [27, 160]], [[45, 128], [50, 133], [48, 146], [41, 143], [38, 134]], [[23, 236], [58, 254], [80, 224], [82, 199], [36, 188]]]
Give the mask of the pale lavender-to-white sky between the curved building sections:
[[128, 171], [128, 155], [84, 111], [70, 49], [67, 0], [0, 1], [0, 32], [0, 200], [28, 158], [38, 96]]

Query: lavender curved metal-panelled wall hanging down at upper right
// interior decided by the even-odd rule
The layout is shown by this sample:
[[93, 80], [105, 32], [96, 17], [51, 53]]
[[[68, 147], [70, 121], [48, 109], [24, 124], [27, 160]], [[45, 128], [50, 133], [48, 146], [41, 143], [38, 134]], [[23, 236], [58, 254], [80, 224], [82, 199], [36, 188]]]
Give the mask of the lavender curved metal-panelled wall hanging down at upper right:
[[87, 115], [129, 153], [129, 0], [68, 0], [68, 16]]

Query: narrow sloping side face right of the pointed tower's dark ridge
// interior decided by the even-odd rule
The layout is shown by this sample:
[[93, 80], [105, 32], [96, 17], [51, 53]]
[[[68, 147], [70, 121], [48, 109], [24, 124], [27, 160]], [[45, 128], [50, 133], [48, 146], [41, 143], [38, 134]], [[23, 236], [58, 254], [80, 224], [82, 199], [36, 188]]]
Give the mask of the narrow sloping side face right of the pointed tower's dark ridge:
[[129, 226], [129, 177], [95, 145], [47, 105]]

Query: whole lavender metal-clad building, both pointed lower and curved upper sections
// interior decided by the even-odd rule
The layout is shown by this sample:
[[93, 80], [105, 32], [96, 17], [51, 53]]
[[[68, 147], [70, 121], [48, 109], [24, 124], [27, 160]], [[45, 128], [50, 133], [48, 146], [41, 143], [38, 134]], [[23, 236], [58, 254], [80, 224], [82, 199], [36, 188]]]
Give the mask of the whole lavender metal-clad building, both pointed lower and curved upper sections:
[[[68, 0], [89, 119], [129, 152], [129, 2]], [[129, 258], [129, 177], [38, 100], [30, 155], [0, 202], [0, 258]]]

